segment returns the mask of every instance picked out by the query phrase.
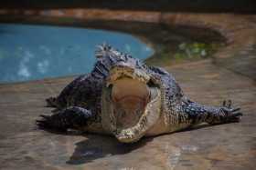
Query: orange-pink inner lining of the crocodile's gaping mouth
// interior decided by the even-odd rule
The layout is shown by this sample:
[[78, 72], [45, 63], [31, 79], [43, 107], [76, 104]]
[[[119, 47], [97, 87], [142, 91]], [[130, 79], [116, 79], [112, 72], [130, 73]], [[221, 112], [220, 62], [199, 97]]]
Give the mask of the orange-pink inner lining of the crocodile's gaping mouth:
[[122, 77], [112, 84], [113, 114], [121, 128], [136, 125], [144, 114], [150, 90], [144, 81]]

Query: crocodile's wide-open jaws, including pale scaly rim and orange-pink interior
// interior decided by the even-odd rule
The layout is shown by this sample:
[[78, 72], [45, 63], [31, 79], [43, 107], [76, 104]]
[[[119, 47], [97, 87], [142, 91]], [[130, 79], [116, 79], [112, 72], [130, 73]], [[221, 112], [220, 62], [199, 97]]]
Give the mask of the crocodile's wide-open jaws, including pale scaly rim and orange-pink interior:
[[113, 135], [125, 143], [139, 140], [159, 117], [160, 89], [154, 77], [131, 66], [113, 68], [107, 78], [107, 105]]

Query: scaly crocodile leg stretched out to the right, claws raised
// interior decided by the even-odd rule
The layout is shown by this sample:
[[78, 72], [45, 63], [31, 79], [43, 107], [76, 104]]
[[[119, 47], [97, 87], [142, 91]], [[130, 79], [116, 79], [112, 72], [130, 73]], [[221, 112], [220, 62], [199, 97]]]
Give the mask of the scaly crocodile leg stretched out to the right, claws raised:
[[186, 112], [187, 121], [190, 125], [197, 125], [207, 122], [210, 125], [226, 124], [240, 122], [241, 115], [240, 107], [231, 108], [231, 101], [226, 105], [223, 102], [222, 107], [212, 107], [208, 105], [200, 105], [187, 99], [184, 110]]

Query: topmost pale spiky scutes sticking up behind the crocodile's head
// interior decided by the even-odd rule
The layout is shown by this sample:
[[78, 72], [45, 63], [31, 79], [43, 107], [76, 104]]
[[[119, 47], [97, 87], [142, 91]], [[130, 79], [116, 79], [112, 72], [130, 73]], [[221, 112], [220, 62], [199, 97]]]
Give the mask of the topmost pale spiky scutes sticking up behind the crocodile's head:
[[118, 50], [115, 50], [111, 45], [108, 44], [104, 44], [103, 46], [97, 45], [96, 47], [100, 49], [95, 52], [97, 59], [101, 59], [110, 55], [121, 55]]

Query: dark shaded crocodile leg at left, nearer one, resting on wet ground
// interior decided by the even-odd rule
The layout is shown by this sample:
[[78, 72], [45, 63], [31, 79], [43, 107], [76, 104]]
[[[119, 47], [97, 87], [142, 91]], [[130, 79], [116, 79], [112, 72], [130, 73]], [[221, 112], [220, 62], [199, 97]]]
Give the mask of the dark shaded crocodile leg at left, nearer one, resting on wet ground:
[[71, 106], [64, 110], [57, 112], [54, 115], [40, 115], [41, 120], [37, 120], [37, 125], [41, 127], [52, 127], [56, 129], [67, 130], [68, 132], [78, 134], [81, 127], [90, 125], [93, 117], [90, 110], [80, 108], [78, 106]]

